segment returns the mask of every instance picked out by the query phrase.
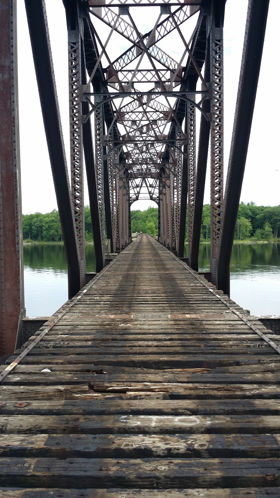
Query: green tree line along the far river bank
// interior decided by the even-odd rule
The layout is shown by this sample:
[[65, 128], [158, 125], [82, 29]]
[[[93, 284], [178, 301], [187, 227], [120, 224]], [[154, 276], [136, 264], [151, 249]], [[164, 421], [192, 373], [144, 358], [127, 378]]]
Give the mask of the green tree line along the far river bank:
[[[157, 234], [157, 208], [149, 207], [144, 211], [131, 211], [131, 228], [133, 233]], [[23, 215], [23, 239], [31, 241], [62, 242], [58, 211]], [[270, 241], [280, 238], [280, 206], [256, 206], [254, 202], [241, 202], [235, 229], [235, 240], [253, 238], [257, 241]], [[85, 239], [92, 242], [90, 209], [85, 207]], [[210, 239], [210, 204], [205, 204], [202, 211], [201, 241]], [[187, 240], [187, 223], [186, 223]]]

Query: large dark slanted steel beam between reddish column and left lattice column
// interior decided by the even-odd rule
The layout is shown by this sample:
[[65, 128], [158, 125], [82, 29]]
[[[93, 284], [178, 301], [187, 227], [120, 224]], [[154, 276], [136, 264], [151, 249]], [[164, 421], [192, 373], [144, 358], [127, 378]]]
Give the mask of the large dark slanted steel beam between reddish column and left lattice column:
[[68, 296], [82, 285], [78, 239], [67, 171], [44, 0], [25, 0], [39, 97], [68, 267]]

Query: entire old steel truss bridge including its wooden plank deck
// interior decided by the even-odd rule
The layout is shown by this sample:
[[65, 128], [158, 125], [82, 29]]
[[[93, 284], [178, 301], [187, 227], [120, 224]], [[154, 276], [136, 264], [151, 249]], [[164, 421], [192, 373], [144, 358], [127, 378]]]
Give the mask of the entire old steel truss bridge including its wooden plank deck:
[[[25, 0], [69, 282], [69, 300], [33, 323], [15, 1], [0, 0], [0, 497], [279, 498], [280, 319], [229, 297], [269, 0], [248, 2], [225, 189], [225, 0], [63, 0], [70, 179], [45, 1]], [[95, 274], [86, 273], [84, 171]], [[143, 196], [158, 206], [158, 241], [132, 242], [130, 209]]]

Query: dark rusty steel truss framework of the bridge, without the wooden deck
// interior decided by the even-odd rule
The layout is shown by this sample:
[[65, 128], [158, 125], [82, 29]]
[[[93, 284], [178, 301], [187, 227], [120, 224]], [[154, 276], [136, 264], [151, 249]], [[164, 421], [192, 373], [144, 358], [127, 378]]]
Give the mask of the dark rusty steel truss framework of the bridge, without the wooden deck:
[[[225, 182], [225, 0], [63, 3], [68, 30], [70, 179], [45, 1], [25, 0], [67, 257], [69, 298], [85, 284], [85, 173], [97, 272], [105, 266], [105, 233], [111, 253], [131, 242], [130, 209], [140, 192], [158, 206], [158, 241], [181, 258], [187, 218], [188, 264], [198, 270], [208, 149], [211, 281], [229, 295], [230, 256], [269, 0], [249, 0], [248, 4]], [[2, 355], [13, 352], [18, 324], [20, 327], [24, 315], [15, 7], [16, 0], [0, 0]], [[150, 20], [147, 32], [138, 27], [143, 16]], [[186, 38], [190, 23], [194, 28]], [[120, 43], [116, 43], [117, 38]], [[119, 47], [127, 48], [122, 51]]]

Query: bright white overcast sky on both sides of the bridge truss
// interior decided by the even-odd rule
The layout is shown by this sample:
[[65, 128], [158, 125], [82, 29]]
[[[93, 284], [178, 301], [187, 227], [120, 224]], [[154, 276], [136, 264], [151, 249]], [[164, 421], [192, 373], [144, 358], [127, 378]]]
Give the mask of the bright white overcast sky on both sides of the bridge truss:
[[[237, 86], [244, 40], [247, 0], [227, 0], [224, 27], [224, 163], [225, 179], [236, 105]], [[54, 71], [67, 160], [69, 162], [67, 31], [62, 1], [46, 0]], [[148, 7], [149, 9], [151, 7]], [[22, 212], [46, 213], [57, 208], [48, 150], [34, 72], [24, 1], [18, 9], [18, 86], [22, 183]], [[136, 10], [137, 7], [132, 9]], [[153, 7], [158, 9], [158, 7]], [[249, 142], [241, 200], [261, 205], [280, 204], [280, 126], [273, 88], [279, 79], [280, 1], [270, 0], [266, 38]], [[148, 19], [149, 20], [149, 19]], [[188, 23], [189, 21], [187, 21]], [[143, 24], [143, 22], [142, 22]], [[145, 19], [148, 28], [148, 21]], [[150, 26], [149, 28], [151, 28]], [[166, 40], [168, 37], [166, 38]], [[171, 53], [172, 52], [172, 53]], [[169, 50], [176, 53], [175, 47]], [[177, 58], [177, 57], [176, 57]], [[272, 88], [273, 86], [273, 88]], [[85, 182], [86, 187], [86, 182]], [[209, 171], [204, 202], [210, 202]], [[85, 204], [88, 194], [85, 194]], [[133, 209], [145, 209], [150, 201], [138, 201]], [[155, 204], [154, 204], [155, 206]]]

